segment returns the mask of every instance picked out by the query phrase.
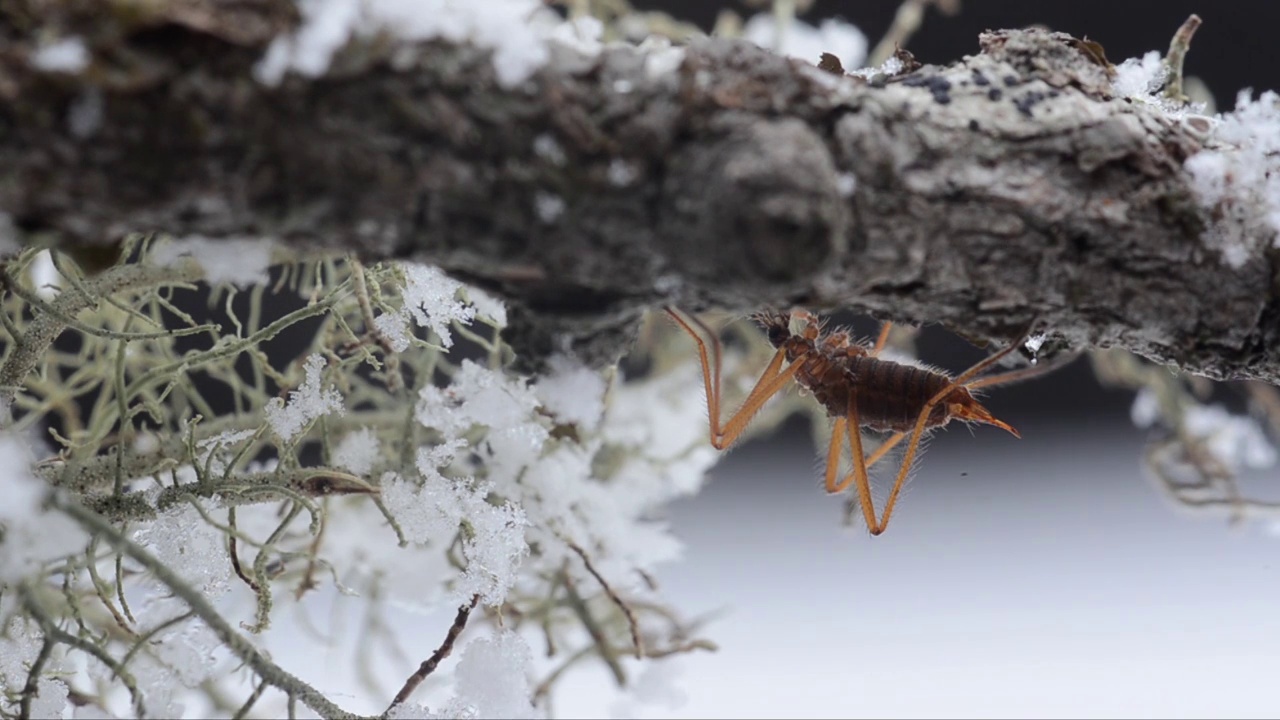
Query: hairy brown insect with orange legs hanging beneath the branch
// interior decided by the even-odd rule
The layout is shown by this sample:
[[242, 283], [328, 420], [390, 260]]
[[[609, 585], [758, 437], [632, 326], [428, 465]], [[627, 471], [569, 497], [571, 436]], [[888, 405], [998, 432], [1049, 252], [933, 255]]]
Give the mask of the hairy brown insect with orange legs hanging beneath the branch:
[[[733, 416], [721, 423], [719, 340], [701, 320], [691, 315], [686, 319], [673, 307], [666, 307], [666, 311], [698, 343], [703, 383], [707, 387], [712, 446], [724, 450], [733, 445], [764, 404], [794, 379], [813, 395], [828, 416], [835, 418], [831, 447], [827, 451], [827, 492], [844, 492], [850, 483], [855, 483], [863, 518], [873, 536], [883, 533], [888, 527], [899, 493], [910, 473], [911, 461], [919, 451], [920, 438], [927, 430], [941, 428], [951, 420], [963, 420], [993, 425], [1014, 437], [1021, 437], [1011, 425], [983, 407], [974, 397], [974, 391], [1027, 379], [1062, 364], [1056, 361], [979, 377], [983, 370], [996, 365], [1027, 341], [1030, 331], [1028, 327], [1018, 342], [951, 377], [942, 370], [881, 357], [892, 329], [891, 323], [881, 327], [876, 345], [865, 347], [855, 342], [847, 331], [823, 332], [823, 324], [810, 313], [794, 310], [785, 314], [767, 310], [753, 315], [753, 320], [764, 329], [777, 352], [742, 406]], [[792, 319], [800, 322], [799, 333], [791, 331]], [[708, 359], [707, 342], [694, 325], [710, 338], [714, 363]], [[863, 427], [892, 433], [869, 457], [863, 452], [860, 432]], [[908, 437], [910, 439], [897, 479], [884, 502], [883, 514], [877, 516], [868, 468]], [[837, 480], [840, 457], [846, 442], [852, 452], [852, 470]]]

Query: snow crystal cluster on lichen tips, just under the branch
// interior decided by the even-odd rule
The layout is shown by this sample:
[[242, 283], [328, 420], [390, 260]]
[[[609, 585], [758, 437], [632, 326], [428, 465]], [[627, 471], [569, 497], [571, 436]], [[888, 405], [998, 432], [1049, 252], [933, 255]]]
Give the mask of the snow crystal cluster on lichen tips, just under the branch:
[[[453, 333], [449, 332], [449, 323], [458, 322], [471, 324], [475, 319], [475, 307], [458, 300], [462, 283], [449, 278], [434, 265], [422, 263], [399, 263], [404, 273], [404, 290], [402, 292], [404, 305], [397, 313], [384, 313], [374, 319], [374, 325], [392, 343], [392, 350], [403, 352], [408, 348], [408, 322], [424, 328], [430, 328], [435, 337], [440, 338], [444, 347], [453, 346]], [[506, 319], [506, 310], [503, 310]]]

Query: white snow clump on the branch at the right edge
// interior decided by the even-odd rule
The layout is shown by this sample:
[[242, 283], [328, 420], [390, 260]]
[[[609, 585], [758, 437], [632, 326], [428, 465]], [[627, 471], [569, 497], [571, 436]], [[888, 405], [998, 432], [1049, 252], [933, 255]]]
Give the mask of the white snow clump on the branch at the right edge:
[[1206, 245], [1240, 268], [1280, 238], [1280, 96], [1240, 91], [1207, 145], [1183, 167], [1210, 219]]

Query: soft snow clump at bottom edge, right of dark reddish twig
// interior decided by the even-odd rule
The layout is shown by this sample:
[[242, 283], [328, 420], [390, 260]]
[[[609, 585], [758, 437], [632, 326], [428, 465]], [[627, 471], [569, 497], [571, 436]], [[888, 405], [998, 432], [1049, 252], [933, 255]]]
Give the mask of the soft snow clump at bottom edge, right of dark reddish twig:
[[454, 670], [453, 717], [536, 717], [529, 674], [534, 653], [512, 630], [467, 643]]

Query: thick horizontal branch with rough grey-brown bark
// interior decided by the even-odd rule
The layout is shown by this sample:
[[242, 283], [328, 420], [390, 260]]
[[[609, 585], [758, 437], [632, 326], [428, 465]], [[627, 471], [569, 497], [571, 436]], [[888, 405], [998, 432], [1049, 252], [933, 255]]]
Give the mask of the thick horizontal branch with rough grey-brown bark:
[[[1001, 31], [870, 82], [728, 40], [673, 72], [388, 38], [252, 79], [283, 1], [0, 6], [0, 213], [72, 245], [269, 236], [413, 258], [499, 293], [530, 359], [626, 350], [659, 304], [852, 307], [1010, 338], [1028, 322], [1216, 378], [1280, 379], [1275, 252], [1201, 240], [1203, 122], [1112, 95], [1079, 41]], [[15, 9], [17, 8], [17, 9]], [[82, 35], [82, 73], [28, 61]], [[86, 132], [69, 114], [101, 104]]]

